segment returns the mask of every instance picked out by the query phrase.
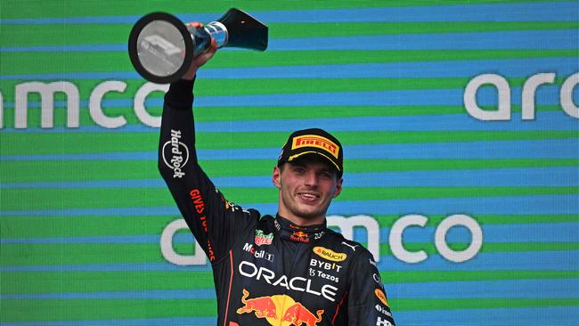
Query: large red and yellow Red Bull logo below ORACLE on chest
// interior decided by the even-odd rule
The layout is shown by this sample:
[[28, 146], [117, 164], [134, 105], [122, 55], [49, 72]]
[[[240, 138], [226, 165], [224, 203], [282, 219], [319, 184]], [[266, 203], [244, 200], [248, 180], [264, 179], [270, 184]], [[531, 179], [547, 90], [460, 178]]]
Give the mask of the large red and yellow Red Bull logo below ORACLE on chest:
[[318, 322], [322, 322], [323, 310], [312, 314], [290, 296], [248, 297], [248, 290], [243, 289], [243, 306], [237, 309], [237, 314], [254, 313], [257, 318], [264, 318], [272, 326], [316, 326]]

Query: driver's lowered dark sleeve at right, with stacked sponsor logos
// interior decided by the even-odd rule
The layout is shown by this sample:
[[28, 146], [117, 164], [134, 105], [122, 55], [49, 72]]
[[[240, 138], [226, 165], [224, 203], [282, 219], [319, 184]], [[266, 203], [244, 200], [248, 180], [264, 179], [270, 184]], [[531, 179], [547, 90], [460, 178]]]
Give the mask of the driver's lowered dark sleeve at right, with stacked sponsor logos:
[[394, 326], [386, 291], [371, 253], [364, 250], [355, 257], [348, 290], [348, 325]]

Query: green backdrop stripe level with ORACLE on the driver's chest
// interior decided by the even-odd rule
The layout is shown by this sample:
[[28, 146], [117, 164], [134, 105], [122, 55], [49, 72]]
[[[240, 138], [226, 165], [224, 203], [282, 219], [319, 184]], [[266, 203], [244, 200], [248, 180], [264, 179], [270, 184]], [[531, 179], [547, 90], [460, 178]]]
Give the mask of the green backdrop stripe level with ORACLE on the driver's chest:
[[[407, 282], [568, 279], [579, 271], [383, 271], [386, 284]], [[87, 281], [90, 280], [90, 281]], [[441, 284], [441, 285], [442, 285]], [[2, 272], [2, 294], [213, 289], [212, 272]], [[3, 300], [4, 301], [4, 300]]]

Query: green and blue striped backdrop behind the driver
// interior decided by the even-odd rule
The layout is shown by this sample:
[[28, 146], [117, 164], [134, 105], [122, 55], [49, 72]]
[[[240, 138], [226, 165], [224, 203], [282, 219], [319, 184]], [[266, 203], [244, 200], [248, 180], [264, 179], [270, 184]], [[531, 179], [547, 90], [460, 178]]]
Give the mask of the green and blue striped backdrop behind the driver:
[[[579, 72], [579, 3], [3, 0], [3, 326], [215, 324], [209, 266], [161, 254], [161, 232], [180, 216], [156, 168], [159, 129], [135, 114], [145, 81], [126, 40], [148, 12], [208, 22], [232, 6], [264, 21], [270, 43], [265, 53], [220, 51], [199, 73], [199, 156], [229, 200], [275, 213], [270, 173], [281, 144], [297, 128], [326, 128], [346, 156], [330, 214], [377, 221], [398, 324], [579, 324], [579, 119], [559, 97]], [[554, 83], [538, 88], [536, 116], [522, 120], [523, 85], [548, 72]], [[469, 80], [488, 73], [509, 83], [510, 120], [465, 110]], [[104, 95], [103, 114], [121, 117], [105, 128], [89, 107], [111, 81], [126, 88]], [[41, 97], [17, 100], [30, 82], [66, 82], [59, 89], [78, 96], [55, 94], [42, 128]], [[146, 98], [153, 120], [162, 95]], [[27, 123], [16, 128], [14, 109], [27, 100]], [[482, 87], [477, 102], [496, 108], [496, 89]], [[416, 264], [389, 245], [392, 226], [412, 214], [428, 218], [403, 233], [406, 250], [428, 255]], [[483, 232], [480, 251], [461, 263], [434, 240], [455, 214]], [[471, 240], [462, 226], [446, 236], [457, 251]], [[186, 230], [173, 240], [181, 255], [192, 243]]]

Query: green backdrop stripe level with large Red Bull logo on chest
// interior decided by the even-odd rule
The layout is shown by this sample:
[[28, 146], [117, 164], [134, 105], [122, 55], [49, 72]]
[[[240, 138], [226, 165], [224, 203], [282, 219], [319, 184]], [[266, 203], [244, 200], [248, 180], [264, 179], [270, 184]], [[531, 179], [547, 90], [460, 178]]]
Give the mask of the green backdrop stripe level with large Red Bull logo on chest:
[[[543, 298], [390, 298], [397, 311], [525, 308], [579, 306], [579, 299]], [[194, 307], [194, 308], [192, 308]], [[214, 316], [216, 300], [208, 299], [122, 299], [122, 300], [3, 300], [2, 322], [69, 321], [82, 319], [164, 318], [175, 316]]]

